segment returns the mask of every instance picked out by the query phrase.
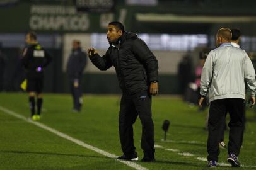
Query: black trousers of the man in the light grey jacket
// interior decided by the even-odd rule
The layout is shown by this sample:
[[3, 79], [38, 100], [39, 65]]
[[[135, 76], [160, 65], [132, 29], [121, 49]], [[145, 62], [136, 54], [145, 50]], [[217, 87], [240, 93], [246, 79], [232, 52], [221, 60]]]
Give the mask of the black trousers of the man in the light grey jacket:
[[239, 155], [243, 142], [245, 129], [245, 100], [240, 98], [227, 98], [211, 101], [208, 122], [208, 161], [218, 161], [219, 140], [223, 132], [223, 122], [226, 113], [230, 114], [230, 139], [228, 142], [228, 154]]

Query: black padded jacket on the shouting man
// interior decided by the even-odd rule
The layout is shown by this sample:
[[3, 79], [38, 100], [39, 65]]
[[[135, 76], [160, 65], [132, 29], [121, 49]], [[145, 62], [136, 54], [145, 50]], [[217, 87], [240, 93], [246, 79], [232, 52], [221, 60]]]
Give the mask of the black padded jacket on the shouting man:
[[100, 70], [107, 70], [113, 65], [120, 88], [131, 94], [148, 91], [149, 84], [158, 81], [158, 61], [135, 33], [124, 32], [103, 57], [94, 54], [90, 60]]

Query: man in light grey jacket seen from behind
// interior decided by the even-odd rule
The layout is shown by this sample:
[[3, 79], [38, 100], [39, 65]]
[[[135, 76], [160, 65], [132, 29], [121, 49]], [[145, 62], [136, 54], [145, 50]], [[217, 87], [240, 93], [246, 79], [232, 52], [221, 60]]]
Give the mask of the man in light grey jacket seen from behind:
[[239, 167], [238, 155], [245, 126], [245, 84], [248, 86], [250, 101], [255, 105], [255, 71], [244, 50], [231, 45], [232, 33], [229, 28], [221, 28], [216, 35], [218, 48], [207, 56], [201, 76], [202, 105], [206, 94], [209, 95], [208, 120], [208, 167], [216, 167], [219, 155], [219, 140], [226, 113], [230, 114], [230, 141], [228, 142], [228, 162]]

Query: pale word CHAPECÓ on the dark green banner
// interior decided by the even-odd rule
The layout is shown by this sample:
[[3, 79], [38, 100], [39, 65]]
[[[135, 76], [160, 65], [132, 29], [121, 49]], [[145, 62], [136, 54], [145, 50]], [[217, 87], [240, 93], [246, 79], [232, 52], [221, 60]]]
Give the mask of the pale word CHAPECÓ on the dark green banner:
[[90, 25], [87, 14], [81, 16], [38, 16], [30, 17], [32, 30], [86, 31]]

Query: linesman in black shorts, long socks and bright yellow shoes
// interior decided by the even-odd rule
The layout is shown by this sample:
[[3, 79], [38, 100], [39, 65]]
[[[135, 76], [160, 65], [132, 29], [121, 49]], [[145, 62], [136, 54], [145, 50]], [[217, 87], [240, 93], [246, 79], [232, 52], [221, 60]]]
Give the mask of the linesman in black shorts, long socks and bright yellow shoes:
[[[26, 79], [32, 120], [40, 120], [43, 103], [44, 69], [52, 60], [50, 54], [37, 42], [33, 32], [26, 34], [28, 47], [23, 51], [22, 62], [26, 69]], [[35, 114], [35, 96], [37, 95], [37, 114]]]

